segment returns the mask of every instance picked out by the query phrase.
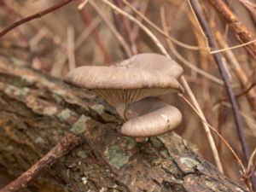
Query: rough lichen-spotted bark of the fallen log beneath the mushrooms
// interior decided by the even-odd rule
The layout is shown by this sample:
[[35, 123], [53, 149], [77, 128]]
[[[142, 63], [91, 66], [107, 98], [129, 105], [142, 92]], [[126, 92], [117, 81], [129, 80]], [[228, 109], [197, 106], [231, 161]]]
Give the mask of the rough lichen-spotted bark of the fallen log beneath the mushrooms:
[[[175, 133], [136, 143], [100, 98], [0, 57], [0, 166], [17, 177], [66, 131], [83, 138], [32, 191], [246, 191]], [[207, 142], [207, 141], [206, 141]]]

